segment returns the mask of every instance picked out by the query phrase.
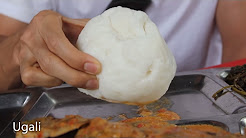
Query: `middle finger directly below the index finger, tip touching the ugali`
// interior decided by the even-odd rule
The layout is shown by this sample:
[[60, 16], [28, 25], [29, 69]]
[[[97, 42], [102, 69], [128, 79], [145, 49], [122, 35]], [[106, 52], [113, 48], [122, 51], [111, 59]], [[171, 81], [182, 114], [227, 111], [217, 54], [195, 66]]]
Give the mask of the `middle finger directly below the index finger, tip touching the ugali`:
[[41, 70], [75, 87], [86, 89], [98, 88], [96, 76], [71, 68], [62, 59], [50, 52], [49, 49], [45, 47], [45, 42], [39, 38], [40, 37], [32, 37], [34, 40], [27, 41], [26, 43], [35, 46], [35, 48], [31, 47], [31, 52], [35, 55]]

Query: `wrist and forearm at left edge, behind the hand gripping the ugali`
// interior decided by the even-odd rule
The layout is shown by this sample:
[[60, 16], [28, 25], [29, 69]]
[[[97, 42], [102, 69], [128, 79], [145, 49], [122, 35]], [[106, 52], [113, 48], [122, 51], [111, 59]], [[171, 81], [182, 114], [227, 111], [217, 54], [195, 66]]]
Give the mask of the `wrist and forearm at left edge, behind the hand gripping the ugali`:
[[17, 60], [20, 33], [0, 37], [0, 93], [22, 85]]

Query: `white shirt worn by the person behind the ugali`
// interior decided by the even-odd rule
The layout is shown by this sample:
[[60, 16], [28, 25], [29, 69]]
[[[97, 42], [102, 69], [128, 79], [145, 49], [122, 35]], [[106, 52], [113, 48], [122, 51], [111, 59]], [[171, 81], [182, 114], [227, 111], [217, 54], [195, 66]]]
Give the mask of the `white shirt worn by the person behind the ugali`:
[[[93, 18], [111, 0], [0, 0], [0, 13], [29, 23], [41, 10], [70, 18]], [[222, 59], [215, 25], [217, 0], [152, 0], [146, 10], [173, 52], [177, 71], [217, 65]]]

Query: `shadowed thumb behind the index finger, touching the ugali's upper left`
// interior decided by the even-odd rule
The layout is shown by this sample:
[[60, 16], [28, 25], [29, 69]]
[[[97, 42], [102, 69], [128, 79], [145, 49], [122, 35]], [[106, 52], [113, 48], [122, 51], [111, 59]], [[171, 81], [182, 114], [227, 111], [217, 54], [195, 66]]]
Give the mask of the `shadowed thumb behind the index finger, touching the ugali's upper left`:
[[62, 17], [62, 30], [68, 40], [75, 45], [80, 32], [90, 19], [71, 19]]

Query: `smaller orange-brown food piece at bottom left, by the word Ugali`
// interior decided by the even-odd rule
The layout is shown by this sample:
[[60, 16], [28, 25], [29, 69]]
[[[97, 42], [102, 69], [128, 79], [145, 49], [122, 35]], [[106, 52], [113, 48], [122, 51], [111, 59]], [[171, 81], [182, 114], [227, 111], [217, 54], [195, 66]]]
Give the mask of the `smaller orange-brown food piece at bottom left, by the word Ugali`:
[[28, 132], [27, 134], [23, 134], [22, 131], [19, 131], [16, 133], [16, 138], [57, 137], [89, 123], [89, 119], [82, 118], [81, 116], [67, 115], [62, 119], [44, 117], [23, 122], [23, 124], [34, 124], [36, 121], [41, 122], [41, 131]]

